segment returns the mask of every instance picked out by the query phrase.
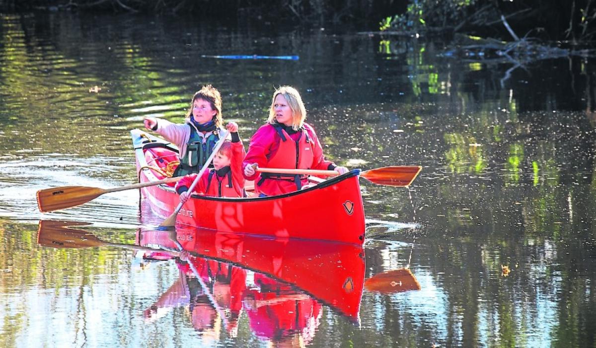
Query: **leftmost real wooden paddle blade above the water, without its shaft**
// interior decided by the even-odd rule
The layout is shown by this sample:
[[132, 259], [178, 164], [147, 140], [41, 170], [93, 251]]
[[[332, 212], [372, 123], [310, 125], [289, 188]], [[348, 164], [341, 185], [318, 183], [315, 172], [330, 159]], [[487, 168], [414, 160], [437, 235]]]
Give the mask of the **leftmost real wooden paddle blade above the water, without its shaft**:
[[105, 193], [105, 190], [97, 187], [86, 186], [62, 186], [37, 192], [38, 207], [42, 213], [76, 207], [83, 203], [97, 198]]

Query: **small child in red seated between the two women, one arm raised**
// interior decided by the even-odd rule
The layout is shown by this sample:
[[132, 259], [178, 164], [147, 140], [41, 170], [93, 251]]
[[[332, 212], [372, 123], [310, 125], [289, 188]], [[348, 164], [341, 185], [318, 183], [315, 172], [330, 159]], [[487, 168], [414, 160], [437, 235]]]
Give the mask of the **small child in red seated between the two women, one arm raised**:
[[[225, 141], [213, 158], [213, 169], [205, 171], [194, 188], [194, 193], [215, 197], [244, 197], [244, 176], [242, 175], [242, 160], [244, 146], [238, 135], [238, 125], [229, 122], [228, 131], [232, 141]], [[180, 201], [186, 202], [191, 193], [188, 188], [193, 184], [197, 173], [186, 175], [176, 184], [176, 192]]]

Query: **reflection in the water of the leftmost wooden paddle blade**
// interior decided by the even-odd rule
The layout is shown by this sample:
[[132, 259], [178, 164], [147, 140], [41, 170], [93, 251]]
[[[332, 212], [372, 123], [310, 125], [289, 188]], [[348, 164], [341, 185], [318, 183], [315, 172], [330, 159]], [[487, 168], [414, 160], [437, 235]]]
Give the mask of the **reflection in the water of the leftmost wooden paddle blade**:
[[104, 245], [104, 242], [91, 232], [72, 228], [86, 225], [88, 223], [76, 221], [39, 220], [38, 244], [52, 248], [88, 248]]

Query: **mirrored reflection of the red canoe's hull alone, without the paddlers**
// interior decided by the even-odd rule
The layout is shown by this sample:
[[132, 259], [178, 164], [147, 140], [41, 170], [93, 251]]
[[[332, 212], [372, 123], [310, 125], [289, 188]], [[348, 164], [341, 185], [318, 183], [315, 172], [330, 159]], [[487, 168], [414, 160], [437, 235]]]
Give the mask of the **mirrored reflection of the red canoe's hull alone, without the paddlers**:
[[[137, 244], [177, 250], [171, 236], [164, 230], [139, 230]], [[365, 272], [361, 246], [193, 228], [176, 229], [176, 239], [184, 250], [197, 257], [231, 263], [290, 284], [350, 321], [359, 322]]]

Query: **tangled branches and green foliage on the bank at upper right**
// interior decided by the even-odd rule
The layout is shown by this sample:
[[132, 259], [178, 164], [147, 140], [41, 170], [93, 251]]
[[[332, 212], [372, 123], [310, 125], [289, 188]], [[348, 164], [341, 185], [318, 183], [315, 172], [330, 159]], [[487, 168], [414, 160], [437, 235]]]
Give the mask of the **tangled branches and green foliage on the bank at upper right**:
[[[381, 21], [381, 30], [420, 32], [431, 29], [452, 32], [479, 32], [480, 35], [511, 40], [511, 30], [542, 39], [588, 41], [596, 35], [596, 7], [593, 0], [477, 1], [409, 0], [404, 13]], [[488, 35], [487, 35], [488, 33]]]

